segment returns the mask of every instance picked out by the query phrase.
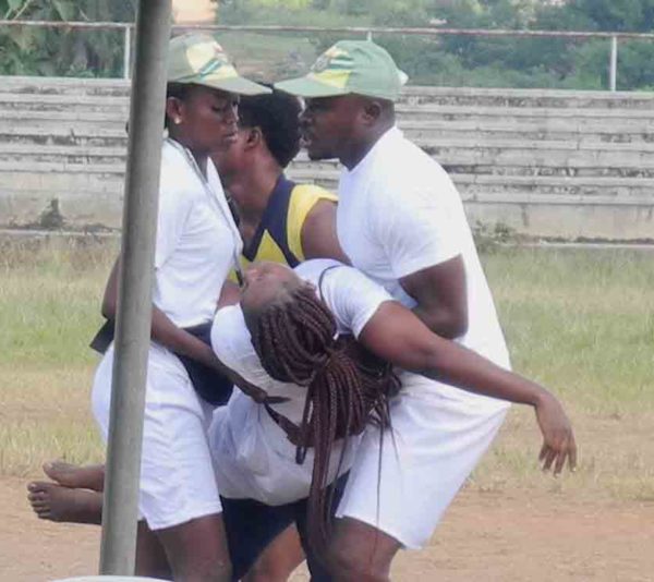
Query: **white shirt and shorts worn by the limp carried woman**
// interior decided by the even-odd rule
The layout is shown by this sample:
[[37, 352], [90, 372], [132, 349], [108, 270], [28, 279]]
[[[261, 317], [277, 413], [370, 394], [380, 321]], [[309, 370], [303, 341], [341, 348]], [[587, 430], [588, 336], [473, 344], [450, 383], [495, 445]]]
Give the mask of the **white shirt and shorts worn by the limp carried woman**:
[[[316, 286], [328, 267], [320, 286], [322, 298], [334, 314], [338, 332], [359, 337], [379, 305], [390, 296], [358, 270], [335, 260], [308, 260], [295, 267], [295, 272]], [[211, 328], [211, 344], [219, 360], [245, 380], [268, 396], [289, 400], [271, 407], [293, 422], [301, 424], [306, 388], [275, 380], [263, 368], [252, 345], [250, 332], [239, 305], [218, 311]], [[358, 442], [351, 437], [339, 474], [348, 471]], [[303, 499], [308, 495], [313, 470], [313, 449], [303, 464], [295, 462], [295, 446], [272, 421], [266, 409], [252, 398], [235, 390], [226, 407], [214, 413], [209, 429], [216, 480], [220, 495], [250, 498], [277, 506]], [[342, 441], [334, 447], [329, 482], [337, 476]]]

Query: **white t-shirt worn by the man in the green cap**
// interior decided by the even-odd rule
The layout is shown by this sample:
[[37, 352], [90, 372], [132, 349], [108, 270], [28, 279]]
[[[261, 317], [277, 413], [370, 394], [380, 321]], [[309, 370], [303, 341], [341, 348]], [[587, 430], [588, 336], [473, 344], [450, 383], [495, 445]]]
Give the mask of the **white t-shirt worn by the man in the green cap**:
[[[469, 328], [458, 341], [509, 367], [506, 342], [461, 198], [436, 161], [392, 128], [352, 171], [343, 169], [338, 197], [338, 238], [352, 265], [410, 308], [415, 301], [399, 280], [461, 255]], [[451, 398], [506, 405], [434, 384]]]

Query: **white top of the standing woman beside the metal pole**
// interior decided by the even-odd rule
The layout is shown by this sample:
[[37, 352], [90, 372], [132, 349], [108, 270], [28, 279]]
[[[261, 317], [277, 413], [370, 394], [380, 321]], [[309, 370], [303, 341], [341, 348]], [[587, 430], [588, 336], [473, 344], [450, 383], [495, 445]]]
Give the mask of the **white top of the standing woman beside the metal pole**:
[[207, 180], [191, 154], [164, 143], [153, 301], [180, 327], [209, 322], [241, 239], [214, 163]]

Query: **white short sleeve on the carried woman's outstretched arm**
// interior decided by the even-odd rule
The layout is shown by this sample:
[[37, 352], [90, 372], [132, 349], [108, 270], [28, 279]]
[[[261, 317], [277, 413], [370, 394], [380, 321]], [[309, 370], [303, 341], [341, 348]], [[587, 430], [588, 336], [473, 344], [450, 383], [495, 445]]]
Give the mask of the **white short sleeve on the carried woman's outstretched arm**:
[[325, 271], [320, 293], [336, 318], [340, 332], [359, 337], [365, 325], [392, 298], [361, 271], [338, 266]]

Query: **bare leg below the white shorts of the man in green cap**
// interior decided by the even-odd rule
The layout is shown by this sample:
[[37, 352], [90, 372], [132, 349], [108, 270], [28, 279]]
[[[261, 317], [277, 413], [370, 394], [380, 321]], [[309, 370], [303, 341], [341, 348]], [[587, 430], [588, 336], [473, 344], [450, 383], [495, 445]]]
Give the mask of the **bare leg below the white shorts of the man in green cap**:
[[329, 547], [330, 571], [339, 582], [389, 582], [390, 563], [401, 544], [361, 521], [336, 521]]

